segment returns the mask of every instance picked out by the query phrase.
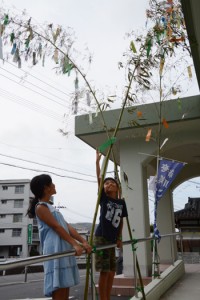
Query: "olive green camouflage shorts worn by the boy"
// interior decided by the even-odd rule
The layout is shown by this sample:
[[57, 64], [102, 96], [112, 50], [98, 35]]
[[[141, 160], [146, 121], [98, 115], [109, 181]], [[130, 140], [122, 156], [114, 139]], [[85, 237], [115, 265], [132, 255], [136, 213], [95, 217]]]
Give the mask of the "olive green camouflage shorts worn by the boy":
[[[107, 241], [104, 237], [101, 236], [94, 237], [95, 246], [105, 246], [108, 244], [112, 244], [112, 242]], [[114, 247], [96, 251], [95, 268], [97, 272], [116, 271], [116, 257]]]

